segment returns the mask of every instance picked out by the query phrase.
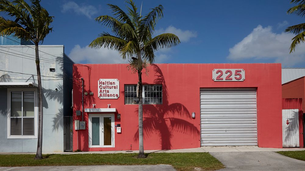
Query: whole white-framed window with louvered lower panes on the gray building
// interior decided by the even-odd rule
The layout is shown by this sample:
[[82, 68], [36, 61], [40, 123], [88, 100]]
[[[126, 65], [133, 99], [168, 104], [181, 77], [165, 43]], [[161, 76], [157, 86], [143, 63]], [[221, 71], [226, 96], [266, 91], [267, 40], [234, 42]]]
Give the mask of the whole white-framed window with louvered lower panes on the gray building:
[[37, 138], [37, 90], [9, 88], [7, 90], [7, 138]]

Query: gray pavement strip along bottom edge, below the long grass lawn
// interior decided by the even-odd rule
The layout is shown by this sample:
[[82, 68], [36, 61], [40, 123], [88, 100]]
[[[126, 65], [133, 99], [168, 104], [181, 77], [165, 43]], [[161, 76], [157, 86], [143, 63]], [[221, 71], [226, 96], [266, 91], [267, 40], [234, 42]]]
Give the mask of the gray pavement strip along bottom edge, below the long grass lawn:
[[27, 166], [27, 167], [0, 167], [0, 171], [176, 171], [170, 165], [134, 165], [134, 166]]

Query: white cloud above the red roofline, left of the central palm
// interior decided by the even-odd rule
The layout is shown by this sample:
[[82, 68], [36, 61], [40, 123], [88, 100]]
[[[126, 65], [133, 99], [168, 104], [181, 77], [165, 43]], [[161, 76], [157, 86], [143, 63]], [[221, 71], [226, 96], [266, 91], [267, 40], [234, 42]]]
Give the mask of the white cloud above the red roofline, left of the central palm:
[[93, 49], [75, 45], [68, 56], [76, 63], [128, 63], [117, 51], [107, 48]]

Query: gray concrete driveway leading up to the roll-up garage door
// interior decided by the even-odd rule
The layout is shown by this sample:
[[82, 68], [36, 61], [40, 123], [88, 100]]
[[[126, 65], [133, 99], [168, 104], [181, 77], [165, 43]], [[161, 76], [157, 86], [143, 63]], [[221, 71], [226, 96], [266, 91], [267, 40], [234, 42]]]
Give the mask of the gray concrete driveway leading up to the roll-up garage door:
[[305, 161], [292, 159], [273, 151], [264, 152], [212, 152], [226, 166], [219, 171], [287, 171], [305, 170]]

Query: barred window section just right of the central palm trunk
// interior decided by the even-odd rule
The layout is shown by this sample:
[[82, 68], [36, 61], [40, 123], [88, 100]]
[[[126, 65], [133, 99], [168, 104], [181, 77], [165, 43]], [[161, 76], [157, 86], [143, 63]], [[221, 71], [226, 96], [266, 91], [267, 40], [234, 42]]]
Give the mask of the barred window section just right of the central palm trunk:
[[143, 104], [162, 104], [162, 85], [143, 85]]

